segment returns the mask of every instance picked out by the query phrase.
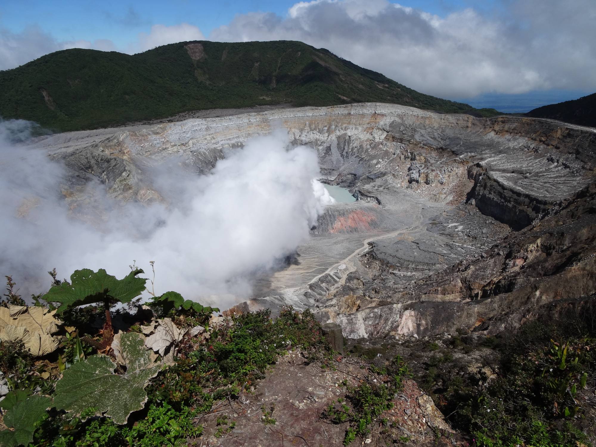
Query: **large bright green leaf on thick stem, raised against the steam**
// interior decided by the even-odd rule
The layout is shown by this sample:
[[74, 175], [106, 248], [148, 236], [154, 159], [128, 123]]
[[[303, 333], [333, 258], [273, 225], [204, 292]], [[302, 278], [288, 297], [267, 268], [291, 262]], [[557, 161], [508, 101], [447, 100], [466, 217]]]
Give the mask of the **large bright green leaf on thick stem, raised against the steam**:
[[90, 269], [75, 270], [70, 276], [70, 283], [54, 285], [42, 299], [46, 302], [61, 303], [58, 313], [68, 308], [85, 304], [119, 301], [129, 303], [145, 290], [145, 278], [136, 275], [144, 273], [141, 269], [130, 272], [122, 280], [108, 275], [104, 269], [94, 272]]

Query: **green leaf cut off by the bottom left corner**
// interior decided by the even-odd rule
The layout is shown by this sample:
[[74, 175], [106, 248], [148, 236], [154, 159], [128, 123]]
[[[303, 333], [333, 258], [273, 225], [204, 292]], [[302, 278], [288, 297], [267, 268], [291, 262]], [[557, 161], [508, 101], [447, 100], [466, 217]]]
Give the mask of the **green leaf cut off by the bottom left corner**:
[[46, 396], [30, 396], [24, 401], [16, 402], [4, 416], [4, 424], [10, 430], [0, 432], [0, 445], [29, 445], [33, 441], [35, 423], [41, 420], [51, 402], [52, 399]]

